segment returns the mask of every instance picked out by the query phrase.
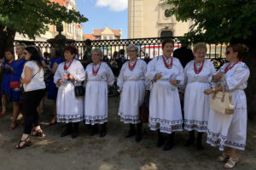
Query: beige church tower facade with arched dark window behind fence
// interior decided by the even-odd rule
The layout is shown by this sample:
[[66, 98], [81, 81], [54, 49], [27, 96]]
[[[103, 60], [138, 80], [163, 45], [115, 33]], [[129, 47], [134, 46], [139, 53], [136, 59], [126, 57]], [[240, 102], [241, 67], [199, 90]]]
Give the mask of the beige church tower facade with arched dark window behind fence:
[[128, 0], [128, 38], [182, 37], [192, 22], [177, 22], [170, 8], [166, 0]]

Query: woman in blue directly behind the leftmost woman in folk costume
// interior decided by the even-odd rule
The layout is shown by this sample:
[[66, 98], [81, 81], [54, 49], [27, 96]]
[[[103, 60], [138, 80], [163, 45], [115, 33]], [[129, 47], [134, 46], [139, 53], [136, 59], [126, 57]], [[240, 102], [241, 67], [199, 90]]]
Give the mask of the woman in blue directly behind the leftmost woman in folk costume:
[[61, 59], [61, 53], [59, 50], [55, 50], [55, 48], [51, 48], [51, 59], [50, 59], [50, 65], [46, 65], [48, 70], [50, 71], [49, 75], [49, 89], [48, 89], [48, 99], [54, 101], [54, 111], [53, 111], [53, 118], [51, 122], [49, 122], [49, 125], [54, 125], [56, 122], [56, 99], [57, 99], [57, 94], [58, 94], [58, 88], [55, 86], [54, 82], [54, 75], [55, 71], [58, 68], [58, 65], [61, 64], [62, 59]]

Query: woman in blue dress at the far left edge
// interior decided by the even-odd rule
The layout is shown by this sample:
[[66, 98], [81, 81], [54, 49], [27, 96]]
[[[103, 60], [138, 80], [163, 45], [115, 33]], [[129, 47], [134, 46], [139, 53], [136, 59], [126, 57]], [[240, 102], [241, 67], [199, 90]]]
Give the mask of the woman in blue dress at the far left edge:
[[2, 113], [1, 116], [4, 116], [6, 113], [6, 101], [7, 98], [11, 97], [10, 82], [12, 77], [12, 71], [14, 71], [13, 66], [15, 65], [15, 55], [14, 51], [7, 49], [4, 52], [6, 61], [1, 66], [1, 71], [3, 71], [3, 80], [1, 86], [2, 94]]

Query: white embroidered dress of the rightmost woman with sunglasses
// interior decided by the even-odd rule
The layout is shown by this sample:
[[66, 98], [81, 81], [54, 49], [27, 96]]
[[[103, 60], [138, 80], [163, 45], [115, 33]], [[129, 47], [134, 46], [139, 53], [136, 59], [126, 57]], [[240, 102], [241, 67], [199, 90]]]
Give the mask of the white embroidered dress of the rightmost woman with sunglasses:
[[[221, 69], [224, 70], [227, 65], [229, 64], [224, 64]], [[224, 115], [210, 110], [207, 143], [212, 146], [218, 145], [219, 150], [224, 150], [224, 146], [238, 150], [245, 149], [247, 139], [247, 99], [244, 89], [247, 88], [249, 75], [250, 71], [243, 62], [237, 63], [224, 74], [229, 92], [233, 96], [235, 111], [233, 115]]]

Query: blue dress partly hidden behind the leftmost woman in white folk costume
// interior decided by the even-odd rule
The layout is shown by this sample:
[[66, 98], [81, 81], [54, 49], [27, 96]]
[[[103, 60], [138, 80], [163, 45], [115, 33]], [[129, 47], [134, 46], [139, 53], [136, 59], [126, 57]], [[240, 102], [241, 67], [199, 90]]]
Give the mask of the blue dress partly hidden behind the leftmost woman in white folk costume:
[[[49, 67], [52, 69], [53, 65], [55, 63], [57, 63], [58, 65], [60, 65], [62, 62], [61, 57], [58, 57], [56, 59], [50, 59], [50, 64]], [[54, 82], [54, 74], [51, 74], [49, 76], [49, 89], [48, 89], [48, 99], [57, 99], [57, 94], [58, 94], [58, 88], [56, 88], [55, 86], [55, 82]]]

